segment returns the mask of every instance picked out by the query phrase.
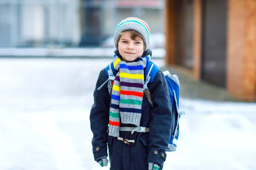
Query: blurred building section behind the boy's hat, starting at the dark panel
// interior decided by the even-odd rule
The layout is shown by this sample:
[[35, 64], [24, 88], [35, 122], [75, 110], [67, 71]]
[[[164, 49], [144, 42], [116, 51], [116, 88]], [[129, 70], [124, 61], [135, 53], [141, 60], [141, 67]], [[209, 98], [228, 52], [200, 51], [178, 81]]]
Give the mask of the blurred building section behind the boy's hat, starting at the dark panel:
[[81, 46], [98, 46], [113, 34], [120, 21], [139, 17], [151, 33], [163, 33], [163, 0], [81, 0]]

